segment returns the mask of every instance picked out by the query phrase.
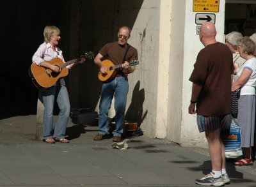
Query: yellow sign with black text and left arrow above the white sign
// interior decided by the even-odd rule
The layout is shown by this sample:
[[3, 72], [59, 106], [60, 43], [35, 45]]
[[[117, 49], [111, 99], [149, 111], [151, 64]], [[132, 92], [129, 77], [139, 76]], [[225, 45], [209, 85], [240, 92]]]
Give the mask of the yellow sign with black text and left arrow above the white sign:
[[219, 12], [220, 0], [193, 0], [193, 11]]

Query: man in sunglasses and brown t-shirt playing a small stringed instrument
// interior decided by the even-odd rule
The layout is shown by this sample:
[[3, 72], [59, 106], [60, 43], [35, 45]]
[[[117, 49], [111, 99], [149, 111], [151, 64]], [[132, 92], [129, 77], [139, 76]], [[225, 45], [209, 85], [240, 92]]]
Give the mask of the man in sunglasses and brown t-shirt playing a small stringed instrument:
[[131, 36], [130, 34], [131, 29], [129, 27], [120, 27], [117, 33], [118, 41], [104, 45], [94, 59], [94, 63], [99, 66], [100, 73], [102, 74], [107, 73], [106, 66], [102, 64], [103, 57], [107, 57], [115, 65], [122, 64], [122, 68], [117, 71], [115, 77], [102, 84], [99, 106], [99, 133], [93, 138], [94, 140], [102, 140], [109, 133], [108, 111], [113, 96], [115, 96], [116, 111], [113, 142], [121, 142], [122, 140], [125, 107], [129, 89], [127, 76], [135, 70], [135, 66], [130, 66], [129, 62], [138, 60], [138, 51], [127, 43]]

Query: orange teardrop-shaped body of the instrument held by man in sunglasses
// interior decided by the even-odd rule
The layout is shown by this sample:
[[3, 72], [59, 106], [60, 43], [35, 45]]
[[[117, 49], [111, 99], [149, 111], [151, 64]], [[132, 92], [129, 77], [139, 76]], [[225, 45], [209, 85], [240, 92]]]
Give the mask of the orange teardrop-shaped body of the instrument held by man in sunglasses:
[[115, 64], [112, 63], [109, 60], [102, 61], [102, 64], [103, 64], [103, 66], [106, 66], [107, 73], [103, 74], [99, 71], [99, 73], [98, 73], [99, 80], [101, 80], [101, 81], [107, 81], [107, 80], [110, 81], [113, 78], [115, 78], [118, 69], [115, 69], [115, 70], [111, 69], [111, 67], [115, 66]]

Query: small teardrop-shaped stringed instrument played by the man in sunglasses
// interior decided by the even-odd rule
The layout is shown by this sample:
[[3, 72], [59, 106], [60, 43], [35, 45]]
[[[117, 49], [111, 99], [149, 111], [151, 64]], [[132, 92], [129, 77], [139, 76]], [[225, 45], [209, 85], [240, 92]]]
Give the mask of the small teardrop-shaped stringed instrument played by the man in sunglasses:
[[[115, 65], [109, 60], [102, 61], [102, 64], [103, 66], [106, 66], [107, 73], [101, 73], [101, 71], [99, 71], [98, 77], [99, 77], [99, 80], [101, 81], [108, 82], [112, 80], [113, 78], [115, 78], [117, 71], [122, 68], [122, 64]], [[138, 64], [139, 64], [138, 60], [133, 60], [129, 62], [129, 66], [136, 66]]]

